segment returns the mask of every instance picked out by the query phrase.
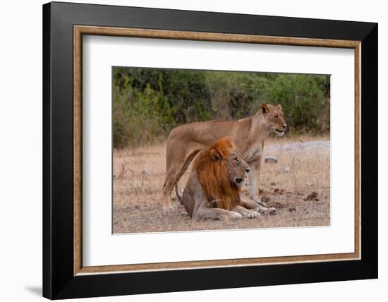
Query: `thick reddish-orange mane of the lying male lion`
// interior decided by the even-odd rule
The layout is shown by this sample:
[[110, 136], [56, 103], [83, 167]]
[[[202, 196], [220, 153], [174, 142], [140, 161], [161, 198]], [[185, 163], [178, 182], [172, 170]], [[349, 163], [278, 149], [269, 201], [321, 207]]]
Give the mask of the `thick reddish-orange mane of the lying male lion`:
[[229, 153], [235, 148], [230, 138], [220, 138], [202, 150], [193, 162], [207, 199], [217, 200], [217, 206], [225, 210], [240, 202], [240, 188], [230, 181], [227, 169]]

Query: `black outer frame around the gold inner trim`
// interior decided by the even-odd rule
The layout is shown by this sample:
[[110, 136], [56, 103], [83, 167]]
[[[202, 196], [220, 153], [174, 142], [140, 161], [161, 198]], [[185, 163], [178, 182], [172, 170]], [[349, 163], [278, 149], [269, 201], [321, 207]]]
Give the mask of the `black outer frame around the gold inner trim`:
[[[361, 41], [361, 260], [73, 276], [73, 25]], [[43, 6], [43, 296], [377, 278], [377, 23], [52, 2]]]

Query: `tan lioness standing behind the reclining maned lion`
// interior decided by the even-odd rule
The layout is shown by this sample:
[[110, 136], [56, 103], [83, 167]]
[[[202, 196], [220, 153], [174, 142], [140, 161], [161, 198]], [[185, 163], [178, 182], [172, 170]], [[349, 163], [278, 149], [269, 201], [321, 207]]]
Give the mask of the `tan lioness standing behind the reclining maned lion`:
[[166, 177], [163, 186], [163, 209], [169, 210], [171, 191], [175, 186], [178, 196], [178, 181], [186, 172], [195, 155], [215, 140], [230, 136], [236, 150], [248, 163], [250, 199], [266, 206], [258, 196], [260, 164], [264, 140], [270, 133], [282, 136], [287, 124], [281, 105], [260, 104], [254, 116], [237, 121], [200, 121], [174, 128], [166, 144]]

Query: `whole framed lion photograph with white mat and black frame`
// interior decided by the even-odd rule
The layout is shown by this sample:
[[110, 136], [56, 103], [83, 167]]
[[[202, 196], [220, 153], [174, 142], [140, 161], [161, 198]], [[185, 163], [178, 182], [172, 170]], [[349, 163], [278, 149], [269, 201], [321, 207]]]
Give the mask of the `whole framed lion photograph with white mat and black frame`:
[[43, 295], [377, 278], [377, 24], [43, 6]]

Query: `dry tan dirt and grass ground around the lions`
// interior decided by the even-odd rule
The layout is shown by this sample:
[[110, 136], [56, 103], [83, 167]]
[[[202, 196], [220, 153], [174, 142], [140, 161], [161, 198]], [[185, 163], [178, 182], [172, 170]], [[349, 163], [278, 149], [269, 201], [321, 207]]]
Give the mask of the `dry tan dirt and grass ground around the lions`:
[[[113, 231], [118, 233], [310, 227], [330, 224], [330, 143], [328, 138], [269, 140], [262, 161], [260, 197], [275, 215], [259, 219], [193, 222], [175, 193], [173, 211], [162, 210], [165, 145], [114, 150]], [[179, 185], [184, 188], [190, 168]], [[248, 183], [243, 191], [248, 193]]]

